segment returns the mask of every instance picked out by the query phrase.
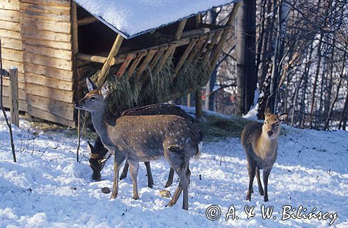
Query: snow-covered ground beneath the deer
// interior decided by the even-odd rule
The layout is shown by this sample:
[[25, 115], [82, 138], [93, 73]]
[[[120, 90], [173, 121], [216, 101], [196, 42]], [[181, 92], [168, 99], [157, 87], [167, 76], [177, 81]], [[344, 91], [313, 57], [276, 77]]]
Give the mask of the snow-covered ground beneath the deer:
[[[154, 189], [146, 186], [145, 166], [140, 165], [139, 200], [132, 199], [129, 177], [120, 181], [119, 197], [111, 199], [111, 193], [100, 190], [111, 188], [111, 159], [102, 171], [103, 180], [94, 182], [86, 141], [82, 142], [82, 161], [77, 163], [77, 138], [69, 134], [72, 130], [31, 131], [27, 140], [28, 128], [28, 122], [21, 120], [21, 129], [13, 129], [17, 149], [17, 163], [13, 163], [8, 129], [0, 117], [0, 227], [327, 227], [331, 222], [331, 218], [283, 221], [285, 205], [296, 209], [303, 205], [305, 213], [314, 208], [315, 213], [337, 213], [333, 226], [348, 227], [345, 131], [285, 127], [269, 179], [267, 203], [258, 195], [256, 181], [251, 202], [245, 200], [248, 175], [239, 139], [205, 143], [200, 159], [191, 161], [189, 211], [184, 211], [182, 197], [175, 206], [166, 208], [169, 199], [159, 196], [168, 176], [165, 161], [151, 163]], [[172, 194], [177, 184], [175, 176], [168, 188]], [[212, 204], [221, 208], [221, 217], [214, 221], [206, 218], [206, 209]], [[239, 219], [226, 221], [232, 204]], [[262, 204], [274, 206], [271, 218], [262, 219]], [[246, 218], [246, 205], [255, 206], [252, 218]]]

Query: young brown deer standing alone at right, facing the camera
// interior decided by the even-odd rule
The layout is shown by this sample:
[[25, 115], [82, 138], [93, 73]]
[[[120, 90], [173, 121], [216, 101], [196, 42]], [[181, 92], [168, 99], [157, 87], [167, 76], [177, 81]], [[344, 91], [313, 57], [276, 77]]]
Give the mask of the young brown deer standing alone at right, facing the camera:
[[[268, 201], [268, 177], [276, 162], [280, 122], [287, 119], [287, 113], [274, 115], [266, 111], [264, 123], [252, 122], [242, 132], [242, 145], [248, 162], [249, 185], [246, 200], [251, 200], [253, 193], [253, 181], [256, 174], [260, 195], [264, 196], [264, 202]], [[263, 184], [260, 180], [260, 169], [263, 169]]]

